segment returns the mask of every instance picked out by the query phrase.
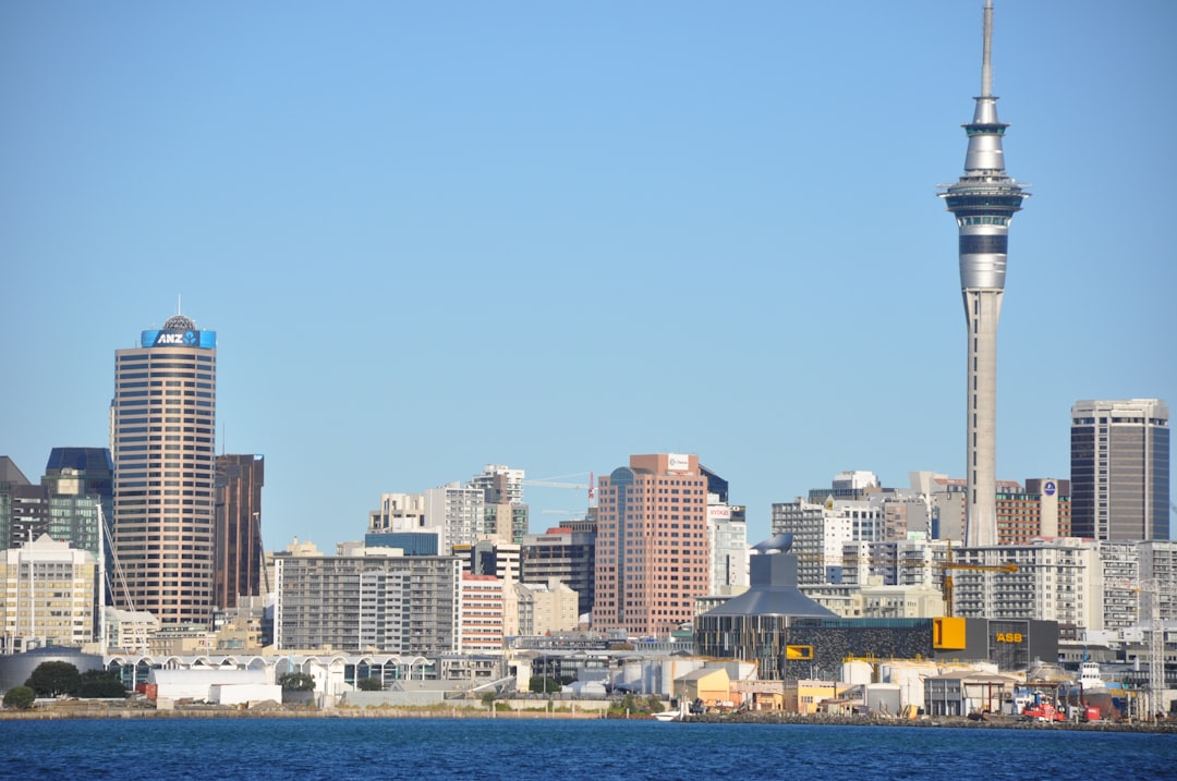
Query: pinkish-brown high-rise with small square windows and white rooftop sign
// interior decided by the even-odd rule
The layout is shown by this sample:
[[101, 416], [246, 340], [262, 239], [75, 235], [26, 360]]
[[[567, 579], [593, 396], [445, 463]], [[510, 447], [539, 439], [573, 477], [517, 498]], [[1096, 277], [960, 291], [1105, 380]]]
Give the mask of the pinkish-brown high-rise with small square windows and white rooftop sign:
[[600, 479], [592, 626], [666, 636], [710, 581], [707, 478], [697, 455], [631, 455]]

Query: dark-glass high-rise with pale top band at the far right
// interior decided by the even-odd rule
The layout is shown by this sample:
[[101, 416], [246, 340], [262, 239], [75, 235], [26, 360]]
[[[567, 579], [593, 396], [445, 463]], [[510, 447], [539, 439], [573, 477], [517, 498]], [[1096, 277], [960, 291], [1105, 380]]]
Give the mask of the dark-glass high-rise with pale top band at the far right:
[[1169, 539], [1169, 407], [1163, 401], [1071, 407], [1071, 529], [1096, 540]]

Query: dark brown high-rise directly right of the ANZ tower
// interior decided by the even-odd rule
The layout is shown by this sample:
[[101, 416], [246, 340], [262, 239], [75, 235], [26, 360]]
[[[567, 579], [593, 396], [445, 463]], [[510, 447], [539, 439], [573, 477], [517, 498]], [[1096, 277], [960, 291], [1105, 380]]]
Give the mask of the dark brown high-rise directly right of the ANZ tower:
[[217, 456], [215, 578], [213, 602], [219, 608], [237, 607], [240, 598], [270, 590], [262, 582], [261, 487], [265, 483], [261, 455]]

